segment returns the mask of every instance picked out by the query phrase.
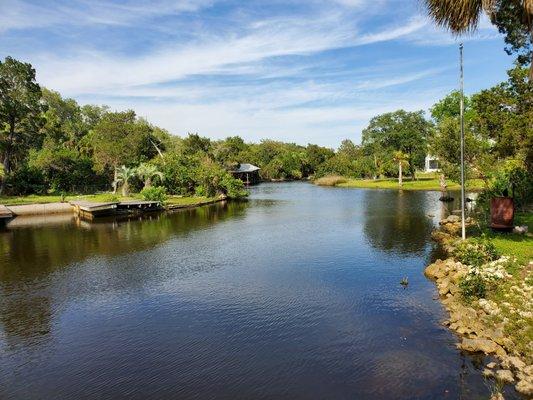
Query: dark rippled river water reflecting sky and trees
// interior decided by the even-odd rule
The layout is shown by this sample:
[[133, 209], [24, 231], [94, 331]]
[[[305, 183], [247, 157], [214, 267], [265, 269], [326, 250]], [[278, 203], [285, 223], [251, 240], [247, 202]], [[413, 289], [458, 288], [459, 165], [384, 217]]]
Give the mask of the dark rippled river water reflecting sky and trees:
[[143, 219], [17, 218], [0, 398], [487, 398], [423, 275], [438, 197], [278, 183]]

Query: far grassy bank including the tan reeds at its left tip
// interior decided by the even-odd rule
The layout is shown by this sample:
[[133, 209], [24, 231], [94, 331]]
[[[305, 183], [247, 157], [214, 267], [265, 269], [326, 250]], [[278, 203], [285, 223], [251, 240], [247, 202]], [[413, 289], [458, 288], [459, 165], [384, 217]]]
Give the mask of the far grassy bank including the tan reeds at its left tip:
[[[357, 188], [357, 189], [394, 189], [394, 190], [428, 190], [440, 191], [440, 182], [434, 177], [418, 177], [417, 180], [404, 178], [403, 184], [398, 185], [398, 179], [353, 179], [344, 178], [342, 176], [326, 176], [314, 181], [318, 186], [333, 186], [343, 188]], [[471, 179], [468, 181], [468, 191], [477, 191], [483, 188], [483, 181], [481, 179]], [[448, 182], [448, 190], [460, 190], [461, 186], [454, 182]]]

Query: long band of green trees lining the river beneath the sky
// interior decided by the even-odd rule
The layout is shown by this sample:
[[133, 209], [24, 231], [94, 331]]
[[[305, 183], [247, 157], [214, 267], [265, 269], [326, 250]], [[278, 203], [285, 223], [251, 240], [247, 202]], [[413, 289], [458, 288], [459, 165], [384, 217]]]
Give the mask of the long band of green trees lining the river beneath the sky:
[[[467, 160], [472, 171], [488, 174], [487, 166], [510, 158], [531, 171], [531, 99], [527, 71], [520, 67], [509, 71], [507, 82], [466, 99]], [[238, 192], [228, 171], [240, 163], [260, 167], [264, 180], [397, 176], [399, 164], [414, 177], [428, 153], [438, 156], [445, 173], [456, 178], [458, 93], [435, 104], [430, 115], [398, 110], [376, 116], [363, 130], [361, 145], [344, 140], [337, 150], [274, 140], [246, 143], [238, 136], [179, 137], [131, 110], [80, 106], [40, 87], [30, 64], [7, 57], [0, 62], [2, 191], [17, 195], [107, 190], [128, 175], [128, 169], [136, 169], [141, 173], [126, 178], [133, 189], [150, 186], [153, 180], [171, 194]], [[121, 177], [117, 171], [122, 171]]]

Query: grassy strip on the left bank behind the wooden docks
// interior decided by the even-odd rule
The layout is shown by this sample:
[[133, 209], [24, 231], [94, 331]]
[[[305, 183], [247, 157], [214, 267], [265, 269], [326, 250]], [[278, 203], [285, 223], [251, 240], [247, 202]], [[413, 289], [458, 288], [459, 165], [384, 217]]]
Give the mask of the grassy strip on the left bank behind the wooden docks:
[[[47, 204], [47, 203], [59, 203], [61, 201], [73, 201], [73, 200], [85, 200], [95, 203], [104, 203], [111, 201], [131, 201], [141, 200], [140, 194], [131, 194], [124, 197], [120, 195], [114, 195], [112, 193], [98, 193], [91, 195], [29, 195], [29, 196], [2, 196], [0, 197], [0, 204], [6, 206], [16, 206], [25, 204]], [[212, 203], [216, 198], [204, 197], [204, 196], [168, 196], [165, 204], [174, 207], [192, 207], [200, 206], [202, 204]]]

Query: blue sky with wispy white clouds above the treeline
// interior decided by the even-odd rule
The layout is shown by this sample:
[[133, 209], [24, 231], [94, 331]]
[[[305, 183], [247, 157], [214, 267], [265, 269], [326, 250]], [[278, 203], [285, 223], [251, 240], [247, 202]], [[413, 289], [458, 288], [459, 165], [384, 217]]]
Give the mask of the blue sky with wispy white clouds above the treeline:
[[176, 135], [337, 147], [374, 115], [505, 79], [482, 20], [457, 39], [421, 0], [0, 0], [0, 57], [80, 103], [134, 109]]

